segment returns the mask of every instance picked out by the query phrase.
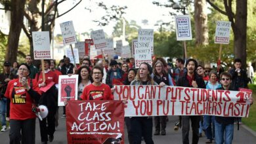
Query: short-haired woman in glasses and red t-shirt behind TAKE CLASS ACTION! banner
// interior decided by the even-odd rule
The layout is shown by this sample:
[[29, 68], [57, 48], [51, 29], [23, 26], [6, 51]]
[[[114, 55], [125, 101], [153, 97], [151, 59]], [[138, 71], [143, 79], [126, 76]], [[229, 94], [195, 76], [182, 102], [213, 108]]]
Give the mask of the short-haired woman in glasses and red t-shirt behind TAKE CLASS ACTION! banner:
[[108, 84], [102, 83], [103, 69], [95, 65], [91, 71], [93, 83], [85, 86], [81, 99], [83, 100], [113, 100], [112, 90]]

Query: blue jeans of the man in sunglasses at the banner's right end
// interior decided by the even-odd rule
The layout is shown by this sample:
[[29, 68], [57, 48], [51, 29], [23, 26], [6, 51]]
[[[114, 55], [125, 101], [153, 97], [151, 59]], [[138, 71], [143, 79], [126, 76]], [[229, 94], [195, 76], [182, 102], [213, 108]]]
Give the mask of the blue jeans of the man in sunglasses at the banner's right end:
[[234, 135], [234, 124], [220, 124], [215, 120], [215, 144], [231, 144]]

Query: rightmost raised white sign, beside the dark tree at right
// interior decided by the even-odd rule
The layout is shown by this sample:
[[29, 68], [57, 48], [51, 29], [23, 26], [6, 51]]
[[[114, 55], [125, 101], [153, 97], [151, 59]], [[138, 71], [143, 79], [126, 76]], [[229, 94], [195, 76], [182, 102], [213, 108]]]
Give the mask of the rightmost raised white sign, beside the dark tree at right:
[[231, 22], [217, 21], [214, 43], [228, 44], [230, 36], [230, 27]]

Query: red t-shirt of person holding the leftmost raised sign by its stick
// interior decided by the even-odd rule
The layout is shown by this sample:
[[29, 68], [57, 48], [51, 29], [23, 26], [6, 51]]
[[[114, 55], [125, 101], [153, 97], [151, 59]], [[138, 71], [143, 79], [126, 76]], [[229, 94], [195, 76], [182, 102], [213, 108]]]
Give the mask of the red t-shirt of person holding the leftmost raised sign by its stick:
[[[35, 75], [35, 79], [38, 80], [38, 84], [43, 82], [43, 75], [40, 73], [38, 77], [38, 73]], [[47, 85], [49, 82], [53, 81], [55, 84], [58, 84], [58, 76], [53, 71], [49, 71], [45, 73], [45, 84]]]

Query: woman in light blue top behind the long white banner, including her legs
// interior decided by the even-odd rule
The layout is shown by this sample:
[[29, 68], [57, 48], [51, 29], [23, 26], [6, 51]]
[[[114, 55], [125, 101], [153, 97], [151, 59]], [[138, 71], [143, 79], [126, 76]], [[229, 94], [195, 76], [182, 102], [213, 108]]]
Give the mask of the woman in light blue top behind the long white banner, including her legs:
[[[211, 71], [209, 73], [209, 81], [206, 84], [206, 89], [216, 90], [217, 88], [221, 88], [221, 84], [217, 81], [217, 73], [215, 71]], [[207, 137], [207, 141], [205, 143], [212, 143], [215, 137], [215, 117], [211, 115], [203, 116], [203, 130], [205, 130], [205, 135]]]

